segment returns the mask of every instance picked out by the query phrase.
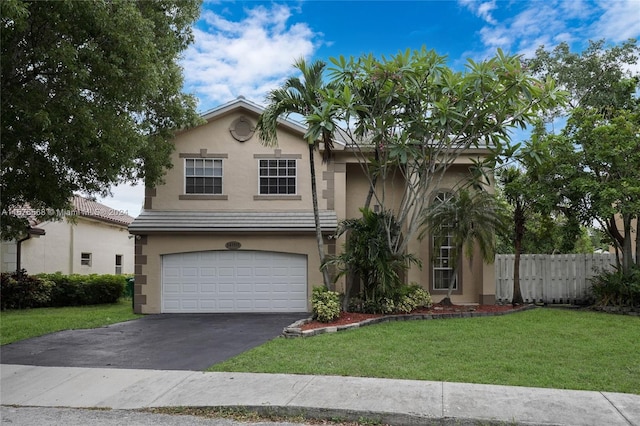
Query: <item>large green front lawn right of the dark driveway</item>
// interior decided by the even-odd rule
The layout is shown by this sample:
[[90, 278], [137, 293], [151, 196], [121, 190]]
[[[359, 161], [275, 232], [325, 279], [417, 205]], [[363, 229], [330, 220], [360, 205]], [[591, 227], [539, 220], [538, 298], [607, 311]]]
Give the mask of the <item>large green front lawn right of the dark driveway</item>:
[[209, 371], [487, 383], [640, 394], [640, 318], [536, 309], [275, 339]]

